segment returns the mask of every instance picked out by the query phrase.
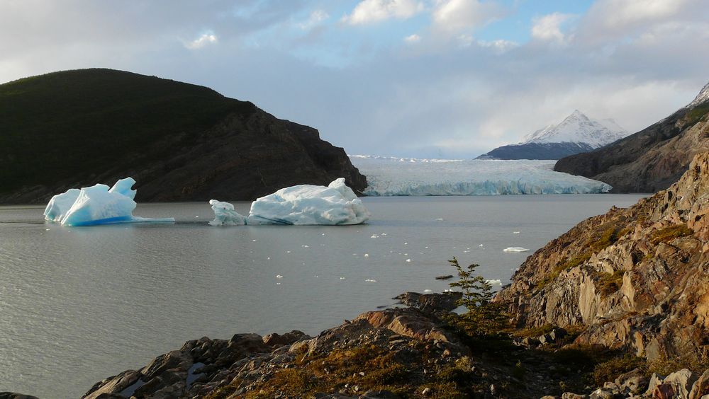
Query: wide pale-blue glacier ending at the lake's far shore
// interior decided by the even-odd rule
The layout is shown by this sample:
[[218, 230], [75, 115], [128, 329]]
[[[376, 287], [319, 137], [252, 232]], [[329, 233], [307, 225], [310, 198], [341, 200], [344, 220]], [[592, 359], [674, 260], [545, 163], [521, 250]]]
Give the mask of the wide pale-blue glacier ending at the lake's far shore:
[[592, 194], [610, 185], [554, 172], [556, 161], [420, 159], [350, 155], [368, 196]]

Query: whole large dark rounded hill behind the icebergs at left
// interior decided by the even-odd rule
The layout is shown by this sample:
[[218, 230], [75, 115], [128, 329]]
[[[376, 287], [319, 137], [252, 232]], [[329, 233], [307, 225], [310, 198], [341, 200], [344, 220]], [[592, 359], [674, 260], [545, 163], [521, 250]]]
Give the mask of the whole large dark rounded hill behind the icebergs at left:
[[367, 185], [316, 129], [210, 88], [111, 69], [0, 85], [0, 203], [128, 175], [139, 201], [248, 200], [337, 177]]

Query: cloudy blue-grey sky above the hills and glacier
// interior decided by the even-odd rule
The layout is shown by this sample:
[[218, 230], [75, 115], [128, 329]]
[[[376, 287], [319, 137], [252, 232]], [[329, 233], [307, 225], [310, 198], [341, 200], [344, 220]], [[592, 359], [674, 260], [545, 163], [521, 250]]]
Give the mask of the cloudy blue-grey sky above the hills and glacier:
[[709, 82], [706, 0], [0, 0], [0, 83], [208, 86], [348, 154], [472, 158], [578, 109], [637, 132]]

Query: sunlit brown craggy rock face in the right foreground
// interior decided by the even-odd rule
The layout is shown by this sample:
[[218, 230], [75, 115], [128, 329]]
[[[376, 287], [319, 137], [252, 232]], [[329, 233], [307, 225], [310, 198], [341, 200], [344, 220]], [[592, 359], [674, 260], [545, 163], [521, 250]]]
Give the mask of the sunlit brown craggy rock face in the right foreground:
[[519, 326], [648, 360], [709, 358], [709, 153], [667, 190], [594, 216], [537, 250], [496, 301]]

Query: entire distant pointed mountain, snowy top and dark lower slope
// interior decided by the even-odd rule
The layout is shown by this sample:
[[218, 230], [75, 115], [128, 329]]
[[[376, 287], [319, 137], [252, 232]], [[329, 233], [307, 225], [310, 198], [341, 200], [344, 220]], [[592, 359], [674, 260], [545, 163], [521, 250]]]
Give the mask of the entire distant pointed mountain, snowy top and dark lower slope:
[[614, 120], [593, 120], [574, 110], [559, 125], [527, 134], [519, 144], [493, 149], [479, 159], [559, 159], [591, 151], [627, 135]]

